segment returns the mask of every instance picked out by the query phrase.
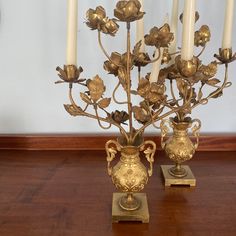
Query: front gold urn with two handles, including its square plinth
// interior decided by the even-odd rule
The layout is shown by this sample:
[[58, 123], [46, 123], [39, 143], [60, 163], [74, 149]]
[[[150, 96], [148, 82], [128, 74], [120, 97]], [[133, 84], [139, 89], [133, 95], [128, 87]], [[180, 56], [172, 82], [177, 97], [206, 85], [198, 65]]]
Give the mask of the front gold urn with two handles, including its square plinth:
[[[106, 143], [107, 168], [112, 182], [120, 193], [113, 194], [113, 221], [122, 221], [127, 217], [142, 222], [149, 221], [146, 195], [140, 193], [153, 173], [154, 154], [156, 144], [152, 141], [144, 141], [138, 138], [133, 145], [127, 145], [125, 139], [110, 140]], [[112, 167], [111, 162], [120, 152], [118, 162]], [[149, 169], [140, 160], [143, 152], [150, 164]]]

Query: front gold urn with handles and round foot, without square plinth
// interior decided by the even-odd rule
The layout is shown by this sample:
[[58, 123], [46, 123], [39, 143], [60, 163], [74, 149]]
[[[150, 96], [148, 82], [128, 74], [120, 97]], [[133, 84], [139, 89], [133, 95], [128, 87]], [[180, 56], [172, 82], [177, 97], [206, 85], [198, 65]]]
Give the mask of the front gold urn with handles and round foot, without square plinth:
[[[128, 146], [123, 138], [119, 138], [118, 141], [109, 140], [105, 147], [108, 174], [116, 188], [127, 193], [119, 200], [119, 206], [127, 211], [137, 210], [140, 207], [140, 201], [135, 198], [133, 193], [142, 191], [148, 182], [148, 176], [152, 176], [156, 144], [152, 141], [143, 142], [143, 139], [140, 138], [135, 146]], [[141, 151], [144, 152], [150, 164], [149, 170], [146, 170], [140, 161]], [[117, 152], [121, 153], [120, 160], [114, 167], [111, 167]]]

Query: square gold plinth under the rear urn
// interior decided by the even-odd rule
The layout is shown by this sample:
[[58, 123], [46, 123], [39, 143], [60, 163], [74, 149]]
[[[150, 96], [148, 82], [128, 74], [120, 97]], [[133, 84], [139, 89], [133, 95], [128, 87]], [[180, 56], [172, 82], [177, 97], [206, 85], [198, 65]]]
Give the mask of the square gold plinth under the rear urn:
[[184, 177], [174, 177], [172, 174], [170, 174], [170, 170], [174, 168], [174, 165], [161, 165], [161, 170], [164, 178], [164, 183], [166, 187], [170, 186], [190, 186], [195, 187], [196, 186], [196, 178], [194, 177], [191, 169], [189, 166], [183, 165], [182, 168], [185, 169], [187, 175]]

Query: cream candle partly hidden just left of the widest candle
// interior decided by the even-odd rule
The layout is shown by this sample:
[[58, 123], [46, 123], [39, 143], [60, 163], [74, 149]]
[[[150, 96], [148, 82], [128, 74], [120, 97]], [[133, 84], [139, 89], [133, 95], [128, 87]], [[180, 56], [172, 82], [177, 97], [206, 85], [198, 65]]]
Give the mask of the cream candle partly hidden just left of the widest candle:
[[174, 40], [171, 42], [169, 53], [175, 53], [178, 39], [178, 19], [179, 19], [179, 0], [173, 0], [170, 31], [174, 34]]

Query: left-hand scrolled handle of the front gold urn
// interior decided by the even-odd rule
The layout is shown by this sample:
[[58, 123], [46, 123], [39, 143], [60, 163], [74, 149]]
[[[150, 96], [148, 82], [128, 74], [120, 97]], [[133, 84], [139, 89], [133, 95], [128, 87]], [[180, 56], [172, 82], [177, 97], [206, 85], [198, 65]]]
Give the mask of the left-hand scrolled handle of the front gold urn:
[[107, 171], [108, 175], [112, 175], [113, 168], [111, 167], [111, 162], [115, 159], [117, 151], [121, 150], [121, 146], [118, 142], [114, 140], [109, 140], [105, 145], [106, 153], [107, 153]]

